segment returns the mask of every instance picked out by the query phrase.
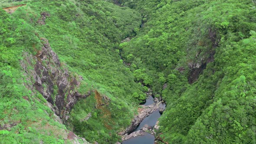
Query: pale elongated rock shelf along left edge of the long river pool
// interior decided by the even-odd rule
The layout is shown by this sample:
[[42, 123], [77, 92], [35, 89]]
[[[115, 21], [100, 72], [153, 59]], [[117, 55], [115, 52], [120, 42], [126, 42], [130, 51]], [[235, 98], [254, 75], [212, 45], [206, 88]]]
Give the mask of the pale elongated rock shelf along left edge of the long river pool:
[[143, 108], [139, 108], [139, 114], [136, 115], [135, 118], [131, 121], [131, 125], [128, 128], [126, 128], [125, 131], [121, 131], [119, 135], [130, 134], [132, 131], [134, 131], [137, 128], [137, 126], [141, 123], [141, 121], [144, 120], [144, 118], [152, 114], [154, 111], [158, 110], [160, 104], [161, 102], [158, 102], [152, 105], [144, 105]]

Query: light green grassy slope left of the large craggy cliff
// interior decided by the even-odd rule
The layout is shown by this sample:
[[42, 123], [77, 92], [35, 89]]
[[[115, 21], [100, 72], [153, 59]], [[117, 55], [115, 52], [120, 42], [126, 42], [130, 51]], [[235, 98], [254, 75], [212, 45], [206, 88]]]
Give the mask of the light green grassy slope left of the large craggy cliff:
[[35, 29], [3, 10], [0, 25], [0, 143], [85, 143], [74, 135], [69, 137], [72, 132], [48, 107], [46, 99], [30, 87], [32, 82], [21, 67], [26, 59], [23, 54], [35, 52], [33, 44], [42, 46], [34, 36]]

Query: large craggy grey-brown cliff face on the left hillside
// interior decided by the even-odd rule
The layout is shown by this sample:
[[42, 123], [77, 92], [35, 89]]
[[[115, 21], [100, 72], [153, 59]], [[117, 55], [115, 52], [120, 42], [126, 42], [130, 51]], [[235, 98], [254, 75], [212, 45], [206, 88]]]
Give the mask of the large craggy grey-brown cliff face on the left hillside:
[[[58, 56], [51, 49], [48, 40], [41, 38], [43, 46], [37, 51], [36, 56], [25, 53], [24, 59], [20, 62], [27, 75], [31, 75], [30, 81], [33, 85], [27, 85], [30, 89], [35, 88], [49, 102], [49, 107], [60, 116], [62, 120], [69, 119], [69, 112], [80, 98], [90, 95], [88, 92], [81, 95], [74, 91], [80, 82], [68, 69], [62, 66]], [[35, 63], [35, 64], [34, 64]], [[34, 69], [28, 69], [33, 66]], [[79, 78], [81, 79], [81, 78]], [[55, 105], [55, 106], [54, 106]]]

